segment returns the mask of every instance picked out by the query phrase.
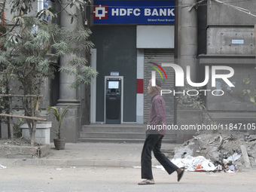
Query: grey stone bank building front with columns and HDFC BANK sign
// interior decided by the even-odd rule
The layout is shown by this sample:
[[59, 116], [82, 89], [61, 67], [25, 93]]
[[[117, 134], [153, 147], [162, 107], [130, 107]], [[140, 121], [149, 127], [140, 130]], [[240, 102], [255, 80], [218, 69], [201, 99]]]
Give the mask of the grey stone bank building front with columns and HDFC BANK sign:
[[[162, 90], [166, 90], [163, 97], [167, 105], [167, 123], [178, 127], [169, 131], [175, 133], [179, 143], [190, 139], [197, 130], [181, 130], [181, 126], [209, 121], [202, 123], [198, 116], [202, 111], [192, 105], [178, 104], [178, 98], [199, 92], [190, 92], [194, 88], [186, 85], [177, 86], [181, 81], [177, 78], [178, 71], [168, 64], [178, 65], [184, 78], [187, 78], [189, 66], [191, 82], [207, 81], [200, 87], [203, 90], [200, 97], [212, 120], [221, 125], [253, 123], [255, 105], [248, 102], [242, 90], [252, 90], [256, 81], [256, 17], [238, 8], [250, 11], [256, 8], [256, 2], [236, 2], [232, 6], [226, 4], [230, 1], [221, 2], [92, 1], [85, 20], [93, 32], [91, 41], [95, 47], [86, 56], [99, 75], [92, 79], [90, 87], [69, 90], [69, 80], [57, 74], [45, 89], [44, 108], [72, 105], [64, 133], [67, 141], [78, 142], [81, 127], [86, 124], [106, 125], [108, 78], [121, 78], [122, 81], [122, 87], [118, 87], [122, 91], [120, 123], [146, 124], [151, 102], [147, 87], [152, 74], [162, 80]], [[69, 24], [65, 14], [59, 20], [62, 26]], [[221, 78], [214, 79], [215, 84], [212, 84], [212, 69], [216, 69], [218, 75], [231, 72], [219, 66], [233, 69], [233, 75], [227, 79], [233, 86]], [[244, 84], [244, 78], [250, 79], [251, 83]]]

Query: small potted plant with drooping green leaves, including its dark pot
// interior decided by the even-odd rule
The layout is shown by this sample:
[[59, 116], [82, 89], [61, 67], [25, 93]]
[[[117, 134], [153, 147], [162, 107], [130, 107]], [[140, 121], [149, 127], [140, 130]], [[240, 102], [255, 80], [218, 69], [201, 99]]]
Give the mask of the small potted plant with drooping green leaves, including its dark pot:
[[69, 111], [69, 109], [68, 109], [69, 107], [70, 107], [70, 105], [66, 106], [66, 108], [64, 108], [64, 110], [62, 110], [62, 108], [57, 109], [56, 107], [48, 107], [47, 108], [47, 112], [52, 111], [52, 113], [58, 123], [58, 129], [55, 130], [56, 138], [53, 139], [54, 146], [57, 150], [65, 148], [66, 138], [62, 138], [62, 136], [61, 136], [62, 120], [64, 119], [67, 111]]

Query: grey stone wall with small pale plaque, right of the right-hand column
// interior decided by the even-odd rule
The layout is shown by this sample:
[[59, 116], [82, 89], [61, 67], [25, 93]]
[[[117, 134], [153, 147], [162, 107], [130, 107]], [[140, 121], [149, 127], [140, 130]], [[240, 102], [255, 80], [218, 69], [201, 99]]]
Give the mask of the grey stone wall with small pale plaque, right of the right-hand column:
[[[221, 79], [216, 80], [216, 87], [207, 84], [207, 90], [223, 90], [223, 96], [206, 96], [207, 110], [218, 123], [255, 122], [256, 106], [248, 101], [242, 91], [253, 90], [255, 78], [255, 17], [239, 11], [233, 6], [254, 11], [255, 1], [230, 2], [228, 5], [214, 2], [207, 5], [206, 54], [201, 54], [200, 68], [204, 66], [230, 66], [234, 70], [229, 78], [235, 87], [229, 87]], [[227, 74], [227, 71], [218, 71]], [[250, 84], [244, 84], [248, 78]], [[242, 130], [243, 132], [254, 130]]]

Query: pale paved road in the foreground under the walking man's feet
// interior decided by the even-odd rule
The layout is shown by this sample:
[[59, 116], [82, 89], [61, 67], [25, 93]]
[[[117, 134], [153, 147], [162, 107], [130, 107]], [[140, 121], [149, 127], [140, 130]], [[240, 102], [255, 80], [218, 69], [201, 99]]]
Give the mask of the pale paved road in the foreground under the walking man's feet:
[[140, 186], [140, 169], [102, 166], [9, 165], [0, 169], [0, 192], [256, 191], [256, 171], [185, 172], [180, 182], [154, 168], [156, 184]]

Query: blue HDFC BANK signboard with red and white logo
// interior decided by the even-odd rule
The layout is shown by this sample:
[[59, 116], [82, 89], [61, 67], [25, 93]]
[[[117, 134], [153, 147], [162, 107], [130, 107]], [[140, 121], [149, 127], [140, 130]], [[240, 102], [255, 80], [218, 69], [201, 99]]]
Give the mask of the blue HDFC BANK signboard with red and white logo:
[[175, 1], [94, 1], [94, 24], [168, 24], [175, 21]]

